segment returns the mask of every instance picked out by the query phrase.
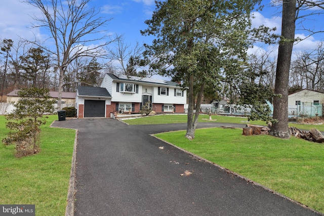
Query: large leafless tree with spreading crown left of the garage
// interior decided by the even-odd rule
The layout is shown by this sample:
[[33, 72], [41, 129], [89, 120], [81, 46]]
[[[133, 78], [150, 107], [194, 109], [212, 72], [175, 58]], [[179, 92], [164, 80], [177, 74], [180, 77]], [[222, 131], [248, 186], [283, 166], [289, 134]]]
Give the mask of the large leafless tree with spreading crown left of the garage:
[[[48, 40], [55, 44], [54, 49], [33, 42], [56, 57], [59, 70], [58, 104], [61, 109], [63, 80], [68, 65], [81, 57], [107, 57], [105, 47], [114, 39], [106, 32], [110, 19], [99, 16], [100, 10], [88, 8], [90, 0], [26, 0], [26, 3], [38, 8], [43, 17], [34, 17], [38, 23], [33, 27], [49, 30]], [[94, 45], [94, 43], [97, 44]]]

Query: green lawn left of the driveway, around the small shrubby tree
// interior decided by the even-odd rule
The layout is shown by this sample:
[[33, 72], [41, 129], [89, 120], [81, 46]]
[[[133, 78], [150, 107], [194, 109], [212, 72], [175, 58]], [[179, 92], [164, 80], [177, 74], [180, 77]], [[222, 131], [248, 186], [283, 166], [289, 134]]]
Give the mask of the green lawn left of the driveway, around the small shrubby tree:
[[[75, 131], [42, 126], [41, 152], [16, 158], [15, 146], [0, 144], [0, 203], [35, 204], [36, 215], [64, 215]], [[8, 133], [0, 116], [0, 140]]]

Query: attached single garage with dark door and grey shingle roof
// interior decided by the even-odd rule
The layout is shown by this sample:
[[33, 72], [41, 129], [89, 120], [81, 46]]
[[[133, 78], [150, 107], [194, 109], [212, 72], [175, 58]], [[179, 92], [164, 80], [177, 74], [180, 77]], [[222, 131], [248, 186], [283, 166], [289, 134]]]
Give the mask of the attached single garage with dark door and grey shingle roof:
[[107, 89], [100, 87], [77, 87], [76, 107], [78, 118], [110, 117], [106, 107], [111, 104], [111, 96]]

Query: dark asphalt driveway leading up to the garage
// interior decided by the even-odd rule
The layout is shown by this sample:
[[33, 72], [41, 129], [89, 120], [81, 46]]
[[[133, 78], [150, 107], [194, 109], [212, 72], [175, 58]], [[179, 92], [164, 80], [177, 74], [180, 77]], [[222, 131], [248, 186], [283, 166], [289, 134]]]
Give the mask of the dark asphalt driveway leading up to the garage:
[[[229, 124], [199, 123], [220, 125]], [[74, 215], [320, 215], [150, 136], [186, 124], [84, 118], [53, 126], [78, 129]]]

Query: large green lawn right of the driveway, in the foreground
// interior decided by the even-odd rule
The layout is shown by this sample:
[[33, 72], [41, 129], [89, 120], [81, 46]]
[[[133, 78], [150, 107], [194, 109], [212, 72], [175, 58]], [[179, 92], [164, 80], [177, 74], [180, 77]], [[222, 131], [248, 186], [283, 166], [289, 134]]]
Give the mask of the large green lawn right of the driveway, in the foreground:
[[[156, 137], [324, 212], [324, 145], [298, 138], [242, 136], [242, 129], [197, 129]], [[194, 172], [194, 170], [193, 170]]]

